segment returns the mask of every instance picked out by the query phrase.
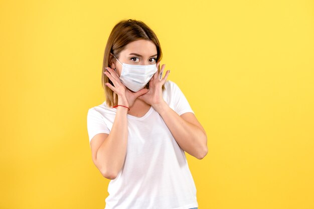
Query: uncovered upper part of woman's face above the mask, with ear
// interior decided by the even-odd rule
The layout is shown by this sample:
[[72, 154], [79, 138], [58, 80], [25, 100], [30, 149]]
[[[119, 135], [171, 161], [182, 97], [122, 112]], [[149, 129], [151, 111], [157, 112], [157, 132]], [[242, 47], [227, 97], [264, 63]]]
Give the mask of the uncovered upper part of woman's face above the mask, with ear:
[[[157, 59], [157, 48], [151, 40], [134, 40], [125, 45], [125, 48], [120, 52], [118, 59], [121, 63], [126, 64], [155, 64]], [[120, 76], [122, 65], [114, 57], [111, 68], [115, 68]]]

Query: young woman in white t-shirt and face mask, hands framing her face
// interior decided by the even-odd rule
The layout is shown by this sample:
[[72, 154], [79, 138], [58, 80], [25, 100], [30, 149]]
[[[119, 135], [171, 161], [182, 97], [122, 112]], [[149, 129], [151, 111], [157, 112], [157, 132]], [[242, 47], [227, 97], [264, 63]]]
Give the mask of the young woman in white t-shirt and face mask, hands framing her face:
[[185, 151], [202, 159], [207, 136], [178, 85], [163, 77], [162, 49], [142, 21], [122, 20], [104, 52], [106, 100], [89, 108], [92, 159], [111, 179], [105, 209], [197, 208]]

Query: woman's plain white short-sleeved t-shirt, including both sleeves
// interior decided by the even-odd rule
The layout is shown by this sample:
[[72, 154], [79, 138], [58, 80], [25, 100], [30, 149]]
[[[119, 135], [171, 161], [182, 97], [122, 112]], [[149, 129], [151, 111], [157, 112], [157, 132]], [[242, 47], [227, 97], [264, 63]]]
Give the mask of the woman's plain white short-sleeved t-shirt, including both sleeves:
[[[193, 112], [181, 89], [165, 82], [163, 97], [179, 115]], [[193, 112], [194, 113], [194, 112]], [[89, 141], [110, 133], [116, 108], [104, 101], [88, 110]], [[105, 209], [189, 209], [198, 207], [196, 186], [185, 151], [162, 116], [150, 107], [142, 117], [127, 114], [127, 151], [122, 169], [108, 185]]]

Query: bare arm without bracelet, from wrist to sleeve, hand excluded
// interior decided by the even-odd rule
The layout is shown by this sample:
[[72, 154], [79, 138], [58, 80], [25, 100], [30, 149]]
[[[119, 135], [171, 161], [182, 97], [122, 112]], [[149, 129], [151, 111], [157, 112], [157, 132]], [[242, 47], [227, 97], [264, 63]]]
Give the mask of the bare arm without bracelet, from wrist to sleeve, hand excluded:
[[155, 105], [154, 109], [163, 117], [183, 150], [198, 159], [205, 157], [208, 152], [207, 135], [192, 112], [186, 112], [180, 116], [165, 101]]

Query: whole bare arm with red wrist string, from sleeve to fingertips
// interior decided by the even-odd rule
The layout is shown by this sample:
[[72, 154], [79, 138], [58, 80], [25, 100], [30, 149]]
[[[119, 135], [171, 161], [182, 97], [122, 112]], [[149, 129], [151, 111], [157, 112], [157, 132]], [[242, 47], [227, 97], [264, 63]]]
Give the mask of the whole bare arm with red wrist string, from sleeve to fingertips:
[[[141, 89], [137, 92], [131, 92], [119, 80], [118, 74], [110, 67], [104, 73], [112, 81], [106, 85], [112, 89], [118, 98], [118, 104], [131, 107], [134, 100], [141, 94], [146, 93], [147, 89]], [[109, 134], [96, 134], [98, 139], [91, 140], [93, 161], [102, 175], [109, 179], [114, 179], [121, 170], [127, 150], [128, 109], [123, 106], [117, 106], [116, 115]]]

